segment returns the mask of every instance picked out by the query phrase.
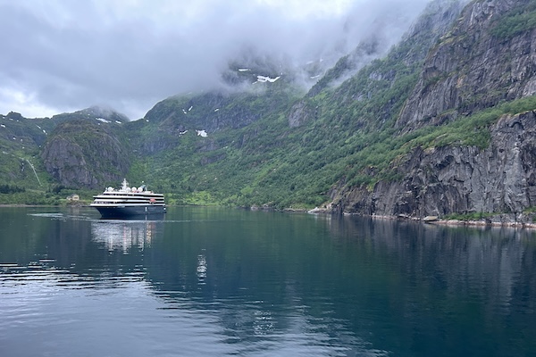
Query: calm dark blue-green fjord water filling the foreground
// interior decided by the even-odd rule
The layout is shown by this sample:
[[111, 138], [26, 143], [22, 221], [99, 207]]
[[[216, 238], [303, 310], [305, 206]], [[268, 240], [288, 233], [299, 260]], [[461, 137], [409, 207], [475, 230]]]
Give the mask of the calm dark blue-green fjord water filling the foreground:
[[536, 356], [536, 234], [0, 208], [0, 356]]

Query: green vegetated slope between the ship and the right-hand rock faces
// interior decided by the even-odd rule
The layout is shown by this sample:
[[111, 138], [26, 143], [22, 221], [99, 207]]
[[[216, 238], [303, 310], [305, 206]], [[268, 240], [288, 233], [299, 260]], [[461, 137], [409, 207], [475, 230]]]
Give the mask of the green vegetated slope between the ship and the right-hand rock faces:
[[301, 127], [289, 129], [289, 98], [286, 105], [276, 101], [278, 110], [270, 112], [273, 106], [258, 98], [247, 105], [255, 109], [264, 103], [260, 120], [208, 137], [191, 131], [176, 135], [174, 149], [138, 158], [130, 177], [147, 178], [177, 203], [276, 208], [319, 205], [341, 179], [372, 182], [376, 178], [363, 170], [389, 164], [389, 155], [401, 145], [390, 143], [392, 127], [415, 86], [420, 63], [395, 58], [414, 49], [398, 46], [391, 57], [373, 62], [337, 89], [306, 98], [317, 113]]

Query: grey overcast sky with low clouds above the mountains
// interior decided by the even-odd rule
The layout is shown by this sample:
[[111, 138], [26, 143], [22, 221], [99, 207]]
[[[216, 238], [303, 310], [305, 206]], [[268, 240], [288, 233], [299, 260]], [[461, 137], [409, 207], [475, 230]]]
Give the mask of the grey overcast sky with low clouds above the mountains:
[[0, 0], [0, 114], [92, 105], [142, 118], [218, 84], [245, 47], [293, 62], [389, 41], [429, 0]]

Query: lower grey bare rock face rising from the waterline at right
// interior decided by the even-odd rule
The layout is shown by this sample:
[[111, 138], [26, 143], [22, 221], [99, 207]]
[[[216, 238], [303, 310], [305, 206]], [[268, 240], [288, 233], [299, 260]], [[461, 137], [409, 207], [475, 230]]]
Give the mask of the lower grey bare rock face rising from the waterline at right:
[[418, 148], [398, 170], [404, 179], [379, 182], [372, 192], [335, 190], [335, 211], [413, 217], [523, 212], [536, 205], [536, 112], [498, 120], [487, 149]]

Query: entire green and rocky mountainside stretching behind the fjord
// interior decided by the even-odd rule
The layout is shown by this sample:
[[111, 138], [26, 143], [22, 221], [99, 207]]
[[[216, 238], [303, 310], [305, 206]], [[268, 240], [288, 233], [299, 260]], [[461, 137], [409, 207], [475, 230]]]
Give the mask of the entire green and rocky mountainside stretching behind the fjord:
[[[48, 185], [143, 180], [172, 203], [529, 220], [534, 38], [532, 1], [437, 0], [385, 55], [370, 37], [328, 71], [296, 71], [251, 51], [222, 72], [224, 89], [172, 96], [141, 120], [61, 114], [25, 132], [31, 150], [10, 139], [13, 123], [3, 160], [35, 162]], [[31, 127], [13, 116], [6, 128]]]

